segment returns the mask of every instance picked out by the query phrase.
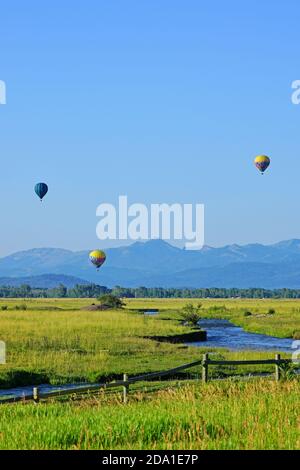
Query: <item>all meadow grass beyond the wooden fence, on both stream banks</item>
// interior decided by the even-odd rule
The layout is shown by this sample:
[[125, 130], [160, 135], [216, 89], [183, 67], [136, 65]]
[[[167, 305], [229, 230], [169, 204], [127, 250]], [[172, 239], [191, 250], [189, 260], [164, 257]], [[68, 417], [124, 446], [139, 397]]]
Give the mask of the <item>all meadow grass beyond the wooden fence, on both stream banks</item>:
[[[146, 339], [190, 331], [179, 321], [179, 309], [187, 303], [184, 299], [127, 301], [128, 309], [161, 309], [161, 313], [154, 317], [130, 310], [81, 310], [91, 302], [89, 299], [1, 300], [0, 339], [7, 345], [7, 364], [0, 366], [0, 387], [112, 380], [123, 373], [132, 376], [173, 368], [198, 360], [203, 352], [211, 351], [205, 343], [197, 348]], [[299, 301], [200, 302], [203, 316], [229, 318], [251, 331], [269, 331], [284, 336], [284, 332], [291, 333], [299, 327]], [[26, 303], [26, 311], [15, 310], [15, 306], [21, 303]], [[2, 305], [7, 305], [8, 310], [1, 311]], [[271, 307], [275, 308], [275, 315], [254, 317]], [[254, 315], [245, 318], [245, 308]], [[263, 359], [270, 356], [271, 353], [264, 352], [217, 351], [220, 359]], [[214, 376], [258, 371], [273, 372], [273, 368], [212, 370]], [[199, 368], [194, 372], [198, 374]]]

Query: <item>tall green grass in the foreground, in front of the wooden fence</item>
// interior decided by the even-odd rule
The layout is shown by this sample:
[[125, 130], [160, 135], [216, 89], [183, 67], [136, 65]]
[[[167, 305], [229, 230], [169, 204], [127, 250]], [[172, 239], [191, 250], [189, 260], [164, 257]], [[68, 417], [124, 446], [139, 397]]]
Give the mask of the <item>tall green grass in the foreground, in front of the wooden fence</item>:
[[299, 381], [0, 407], [0, 449], [297, 449]]

